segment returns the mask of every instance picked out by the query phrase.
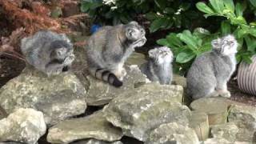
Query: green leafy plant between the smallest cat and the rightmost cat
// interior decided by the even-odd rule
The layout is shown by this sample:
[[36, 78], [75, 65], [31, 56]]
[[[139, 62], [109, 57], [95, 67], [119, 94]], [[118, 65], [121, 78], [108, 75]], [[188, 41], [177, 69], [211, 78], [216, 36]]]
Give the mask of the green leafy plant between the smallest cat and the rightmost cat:
[[196, 28], [193, 33], [183, 30], [182, 33], [170, 33], [166, 38], [159, 39], [157, 43], [168, 46], [174, 52], [174, 72], [185, 74], [194, 58], [210, 50], [210, 42], [216, 34], [208, 30]]

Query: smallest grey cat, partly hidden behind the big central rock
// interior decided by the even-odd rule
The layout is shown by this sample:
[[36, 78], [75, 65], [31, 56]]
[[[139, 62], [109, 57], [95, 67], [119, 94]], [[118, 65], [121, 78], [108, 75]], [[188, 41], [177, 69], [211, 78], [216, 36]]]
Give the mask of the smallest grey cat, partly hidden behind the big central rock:
[[144, 63], [140, 69], [152, 82], [162, 85], [170, 84], [173, 78], [173, 53], [169, 47], [157, 47], [149, 51], [149, 62]]

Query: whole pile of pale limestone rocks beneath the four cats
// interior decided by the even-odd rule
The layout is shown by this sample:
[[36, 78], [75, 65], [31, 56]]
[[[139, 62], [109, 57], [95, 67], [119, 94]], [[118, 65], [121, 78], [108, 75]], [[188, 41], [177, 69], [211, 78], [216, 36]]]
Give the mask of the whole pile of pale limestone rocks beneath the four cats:
[[118, 89], [87, 74], [48, 78], [27, 67], [0, 89], [8, 114], [0, 117], [0, 143], [34, 144], [44, 134], [47, 142], [74, 144], [256, 142], [256, 108], [225, 98], [186, 106], [186, 78], [176, 75], [176, 85], [163, 86], [149, 82], [138, 66], [129, 63], [126, 71]]

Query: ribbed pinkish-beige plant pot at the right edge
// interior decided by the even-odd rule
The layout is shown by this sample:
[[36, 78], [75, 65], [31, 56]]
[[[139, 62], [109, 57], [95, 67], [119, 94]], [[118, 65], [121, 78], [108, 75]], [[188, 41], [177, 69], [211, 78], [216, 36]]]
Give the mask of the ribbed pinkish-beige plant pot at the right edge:
[[256, 55], [252, 63], [242, 62], [238, 67], [238, 87], [248, 94], [256, 95]]

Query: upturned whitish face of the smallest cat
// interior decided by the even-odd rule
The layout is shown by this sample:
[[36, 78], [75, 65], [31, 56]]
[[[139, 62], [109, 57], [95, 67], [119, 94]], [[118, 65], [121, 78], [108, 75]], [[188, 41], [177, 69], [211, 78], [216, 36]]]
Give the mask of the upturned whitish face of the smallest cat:
[[154, 48], [149, 51], [150, 58], [153, 58], [154, 61], [158, 64], [170, 63], [173, 61], [174, 54], [170, 51], [169, 47], [162, 46]]

